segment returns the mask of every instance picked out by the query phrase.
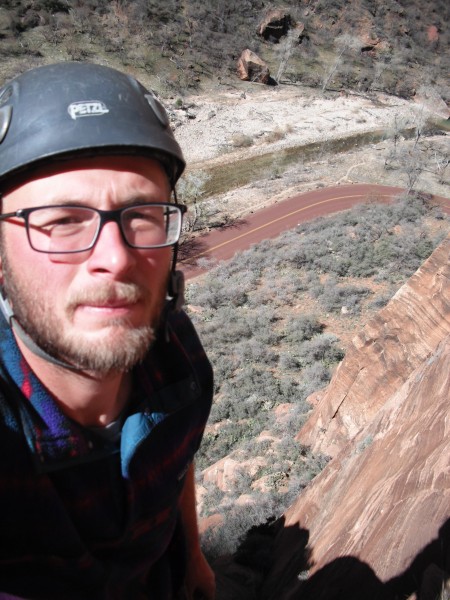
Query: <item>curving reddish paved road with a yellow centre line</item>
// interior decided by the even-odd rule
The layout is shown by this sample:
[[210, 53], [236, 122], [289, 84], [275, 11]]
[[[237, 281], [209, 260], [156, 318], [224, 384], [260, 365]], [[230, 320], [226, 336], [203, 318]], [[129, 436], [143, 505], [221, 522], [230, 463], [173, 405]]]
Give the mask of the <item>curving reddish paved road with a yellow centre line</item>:
[[[246, 215], [231, 227], [214, 229], [199, 236], [192, 242], [192, 247], [185, 250], [188, 256], [181, 257], [180, 266], [186, 279], [191, 279], [205, 271], [197, 265], [199, 258], [228, 260], [239, 250], [246, 250], [261, 240], [275, 238], [299, 223], [346, 210], [369, 198], [390, 202], [402, 191], [400, 187], [354, 184], [322, 188], [288, 198]], [[450, 214], [450, 199], [435, 197], [435, 201]]]

